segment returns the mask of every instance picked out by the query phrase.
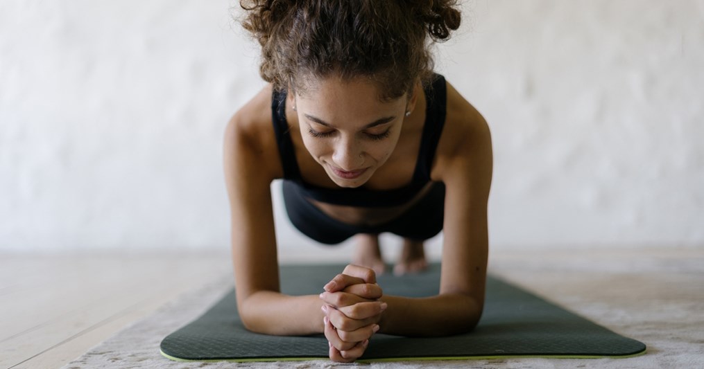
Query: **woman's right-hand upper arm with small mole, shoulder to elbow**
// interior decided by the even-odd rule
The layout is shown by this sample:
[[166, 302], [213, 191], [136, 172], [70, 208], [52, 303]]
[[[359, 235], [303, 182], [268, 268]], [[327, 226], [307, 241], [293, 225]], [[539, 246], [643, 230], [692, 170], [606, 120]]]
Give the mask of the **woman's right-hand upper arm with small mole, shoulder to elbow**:
[[441, 293], [484, 302], [493, 167], [491, 134], [482, 115], [448, 84], [448, 116], [434, 172], [446, 186]]

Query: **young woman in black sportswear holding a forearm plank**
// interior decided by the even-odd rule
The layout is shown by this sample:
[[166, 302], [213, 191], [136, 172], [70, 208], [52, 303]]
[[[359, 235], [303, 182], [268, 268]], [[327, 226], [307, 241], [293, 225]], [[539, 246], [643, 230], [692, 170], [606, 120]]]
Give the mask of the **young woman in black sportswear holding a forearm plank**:
[[[354, 361], [377, 332], [472, 330], [486, 280], [491, 137], [479, 112], [432, 72], [432, 41], [460, 24], [453, 1], [241, 1], [270, 82], [232, 117], [225, 177], [237, 304], [246, 328], [324, 333]], [[270, 183], [314, 240], [353, 235], [353, 264], [312, 296], [279, 292]], [[389, 296], [377, 235], [405, 239], [397, 273], [425, 268], [444, 231], [439, 294]]]

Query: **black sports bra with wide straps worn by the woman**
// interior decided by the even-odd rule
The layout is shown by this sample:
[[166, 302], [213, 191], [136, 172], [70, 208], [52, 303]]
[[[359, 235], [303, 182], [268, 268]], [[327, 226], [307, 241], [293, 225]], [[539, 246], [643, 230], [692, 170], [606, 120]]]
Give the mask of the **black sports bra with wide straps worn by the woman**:
[[324, 188], [304, 181], [296, 162], [289, 124], [286, 121], [286, 91], [274, 91], [271, 110], [279, 156], [284, 168], [284, 181], [295, 183], [295, 188], [306, 198], [334, 205], [393, 207], [406, 204], [430, 182], [433, 158], [445, 124], [447, 100], [445, 78], [434, 75], [431, 86], [426, 86], [424, 90], [427, 99], [425, 124], [413, 179], [406, 186], [391, 190], [369, 190], [364, 186]]

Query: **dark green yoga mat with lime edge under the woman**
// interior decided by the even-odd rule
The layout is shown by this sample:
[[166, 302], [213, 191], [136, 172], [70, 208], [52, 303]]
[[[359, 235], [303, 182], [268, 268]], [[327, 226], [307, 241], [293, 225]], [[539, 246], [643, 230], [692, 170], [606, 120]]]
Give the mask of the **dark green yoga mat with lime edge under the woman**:
[[[282, 291], [318, 294], [343, 266], [283, 266]], [[436, 294], [440, 266], [414, 276], [381, 276], [385, 294]], [[408, 338], [375, 335], [362, 361], [505, 358], [511, 356], [595, 358], [643, 354], [646, 345], [617, 335], [534, 294], [489, 277], [482, 320], [464, 335]], [[244, 329], [234, 290], [192, 323], [161, 342], [161, 353], [182, 361], [286, 361], [327, 358], [322, 335], [279, 337]]]

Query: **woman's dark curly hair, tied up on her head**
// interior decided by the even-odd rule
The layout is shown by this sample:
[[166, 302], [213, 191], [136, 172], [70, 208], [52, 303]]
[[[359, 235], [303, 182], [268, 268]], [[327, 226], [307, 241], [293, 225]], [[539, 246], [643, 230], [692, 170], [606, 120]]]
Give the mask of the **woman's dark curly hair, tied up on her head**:
[[432, 41], [460, 26], [456, 0], [241, 0], [262, 46], [260, 75], [277, 90], [311, 77], [368, 77], [388, 100], [432, 77]]

